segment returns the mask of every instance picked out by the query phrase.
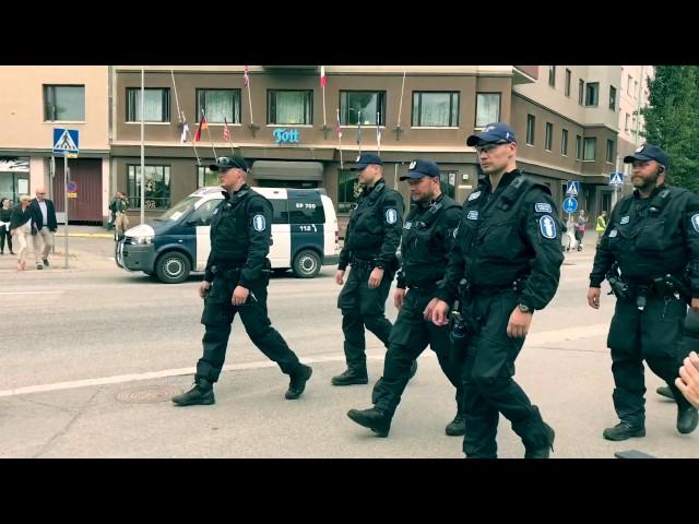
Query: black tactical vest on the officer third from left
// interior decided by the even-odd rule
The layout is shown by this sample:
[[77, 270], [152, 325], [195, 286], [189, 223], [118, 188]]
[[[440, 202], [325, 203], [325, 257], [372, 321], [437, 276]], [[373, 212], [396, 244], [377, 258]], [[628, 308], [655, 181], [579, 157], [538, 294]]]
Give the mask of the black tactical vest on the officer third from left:
[[[403, 225], [401, 243], [402, 271], [407, 285], [436, 283], [443, 276], [448, 249], [445, 236], [451, 231], [447, 231], [446, 222], [439, 222], [439, 217], [452, 207], [460, 205], [448, 195], [427, 209], [413, 205]], [[440, 228], [443, 230], [437, 235]]]

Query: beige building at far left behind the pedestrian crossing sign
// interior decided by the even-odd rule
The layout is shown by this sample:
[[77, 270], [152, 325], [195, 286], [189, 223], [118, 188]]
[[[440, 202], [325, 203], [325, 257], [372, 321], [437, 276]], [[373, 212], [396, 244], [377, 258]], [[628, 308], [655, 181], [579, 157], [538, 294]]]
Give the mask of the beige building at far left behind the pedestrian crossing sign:
[[69, 159], [74, 198], [69, 219], [102, 223], [109, 199], [109, 74], [106, 66], [0, 67], [0, 196], [48, 189], [59, 222], [64, 211], [63, 157], [52, 162], [54, 129], [79, 131]]

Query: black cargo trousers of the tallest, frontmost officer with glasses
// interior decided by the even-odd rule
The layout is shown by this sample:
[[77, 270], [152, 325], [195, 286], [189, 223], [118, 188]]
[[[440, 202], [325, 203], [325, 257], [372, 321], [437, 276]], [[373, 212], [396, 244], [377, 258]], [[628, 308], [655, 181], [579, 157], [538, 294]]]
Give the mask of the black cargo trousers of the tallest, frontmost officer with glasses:
[[512, 425], [525, 448], [548, 445], [544, 421], [536, 406], [512, 377], [514, 359], [524, 338], [510, 338], [507, 324], [519, 302], [513, 290], [473, 293], [466, 307], [479, 319], [479, 333], [466, 347], [463, 369], [466, 433], [463, 451], [469, 457], [496, 457], [499, 413]]

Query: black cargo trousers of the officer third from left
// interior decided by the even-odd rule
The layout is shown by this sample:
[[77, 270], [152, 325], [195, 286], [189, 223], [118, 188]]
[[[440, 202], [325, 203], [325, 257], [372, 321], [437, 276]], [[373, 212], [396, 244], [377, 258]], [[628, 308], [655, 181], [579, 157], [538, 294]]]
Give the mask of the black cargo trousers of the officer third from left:
[[376, 407], [393, 416], [411, 377], [413, 361], [427, 345], [437, 354], [439, 366], [455, 388], [457, 409], [463, 413], [462, 365], [450, 359], [449, 326], [437, 326], [423, 318], [434, 293], [411, 289], [405, 294], [383, 361], [383, 377], [375, 388]]

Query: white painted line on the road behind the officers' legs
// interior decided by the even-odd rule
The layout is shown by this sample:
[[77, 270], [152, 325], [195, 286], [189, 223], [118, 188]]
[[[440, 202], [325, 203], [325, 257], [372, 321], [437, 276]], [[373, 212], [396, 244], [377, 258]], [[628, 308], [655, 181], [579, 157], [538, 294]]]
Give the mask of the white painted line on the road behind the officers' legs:
[[[49, 293], [61, 293], [61, 291], [49, 291]], [[573, 341], [578, 338], [589, 338], [592, 336], [606, 334], [608, 329], [609, 329], [609, 324], [605, 323], [605, 324], [582, 325], [578, 327], [567, 327], [564, 330], [532, 333], [530, 336], [526, 337], [526, 345], [537, 346], [541, 344], [548, 344], [552, 342], [564, 342], [564, 341]], [[435, 358], [434, 352], [425, 352], [423, 355], [427, 356], [428, 358]], [[367, 352], [367, 358], [371, 360], [383, 360], [384, 356], [386, 356], [386, 350], [382, 347], [377, 349], [370, 349], [369, 352]], [[420, 356], [420, 358], [423, 357]], [[344, 354], [319, 355], [315, 357], [303, 357], [303, 361], [304, 364], [344, 362], [345, 356]], [[276, 362], [273, 362], [272, 360], [258, 360], [252, 362], [227, 365], [223, 367], [223, 371], [240, 371], [246, 369], [263, 369], [263, 368], [276, 368], [276, 367], [277, 367]], [[163, 371], [149, 371], [145, 373], [116, 374], [112, 377], [73, 380], [69, 382], [55, 382], [52, 384], [26, 385], [23, 388], [2, 390], [0, 391], [0, 397], [26, 395], [29, 393], [46, 393], [49, 391], [73, 390], [78, 388], [87, 388], [91, 385], [95, 386], [95, 385], [106, 385], [106, 384], [121, 384], [125, 382], [135, 382], [140, 380], [163, 379], [166, 377], [194, 374], [196, 372], [197, 372], [197, 368], [190, 367], [190, 368], [165, 369]]]

